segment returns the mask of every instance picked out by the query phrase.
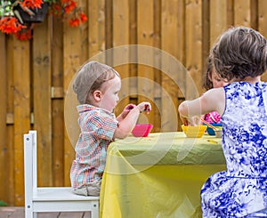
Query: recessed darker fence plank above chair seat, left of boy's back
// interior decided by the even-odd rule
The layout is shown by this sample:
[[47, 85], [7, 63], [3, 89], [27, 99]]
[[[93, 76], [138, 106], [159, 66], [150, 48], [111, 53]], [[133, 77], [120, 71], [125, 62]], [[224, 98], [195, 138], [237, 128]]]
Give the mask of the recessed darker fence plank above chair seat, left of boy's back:
[[[63, 89], [63, 23], [53, 19], [52, 86]], [[62, 96], [63, 97], [63, 96]], [[52, 100], [53, 185], [64, 186], [64, 101]]]

